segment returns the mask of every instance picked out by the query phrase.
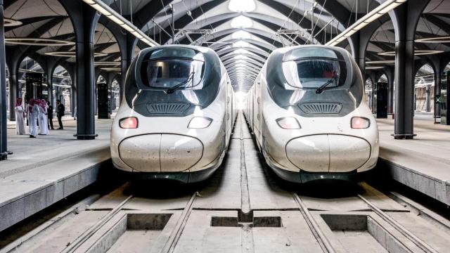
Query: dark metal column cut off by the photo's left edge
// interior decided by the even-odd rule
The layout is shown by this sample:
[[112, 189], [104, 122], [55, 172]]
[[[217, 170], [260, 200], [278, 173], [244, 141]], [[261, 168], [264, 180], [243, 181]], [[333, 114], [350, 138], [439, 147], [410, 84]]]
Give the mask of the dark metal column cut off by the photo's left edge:
[[11, 152], [6, 145], [6, 70], [5, 70], [5, 30], [3, 0], [0, 0], [0, 161], [6, 160]]

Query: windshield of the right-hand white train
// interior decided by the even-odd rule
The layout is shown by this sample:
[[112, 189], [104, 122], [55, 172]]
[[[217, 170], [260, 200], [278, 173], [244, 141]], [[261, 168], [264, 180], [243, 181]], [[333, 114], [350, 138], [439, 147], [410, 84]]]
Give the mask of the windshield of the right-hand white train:
[[283, 73], [290, 86], [299, 89], [327, 88], [345, 83], [347, 67], [333, 50], [309, 48], [295, 50], [285, 58]]

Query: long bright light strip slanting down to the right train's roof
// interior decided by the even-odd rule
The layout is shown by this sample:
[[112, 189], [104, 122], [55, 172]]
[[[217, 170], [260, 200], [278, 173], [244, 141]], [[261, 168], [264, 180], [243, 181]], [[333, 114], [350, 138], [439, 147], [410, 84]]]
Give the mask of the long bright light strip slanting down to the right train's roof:
[[366, 25], [370, 24], [373, 20], [380, 18], [385, 13], [391, 11], [393, 8], [403, 4], [406, 0], [387, 0], [383, 4], [380, 4], [377, 8], [373, 9], [370, 13], [364, 15], [364, 17], [356, 20], [353, 25], [346, 30], [338, 34], [336, 37], [328, 41], [327, 46], [336, 46], [341, 41], [344, 41], [348, 37], [352, 36], [355, 32], [358, 32]]

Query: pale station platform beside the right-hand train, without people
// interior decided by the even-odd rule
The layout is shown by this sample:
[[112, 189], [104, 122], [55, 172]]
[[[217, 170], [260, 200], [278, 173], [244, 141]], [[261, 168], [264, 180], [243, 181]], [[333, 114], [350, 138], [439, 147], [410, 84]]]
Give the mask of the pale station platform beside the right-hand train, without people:
[[377, 119], [380, 130], [379, 167], [392, 179], [450, 205], [450, 126], [415, 117], [413, 140], [394, 140], [393, 119]]

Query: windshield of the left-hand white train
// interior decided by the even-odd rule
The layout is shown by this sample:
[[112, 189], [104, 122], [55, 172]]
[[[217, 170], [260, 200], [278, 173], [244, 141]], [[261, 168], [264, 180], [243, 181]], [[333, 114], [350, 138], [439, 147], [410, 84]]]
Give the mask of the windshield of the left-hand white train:
[[202, 53], [187, 50], [179, 53], [172, 50], [170, 55], [155, 52], [155, 56], [144, 60], [141, 67], [143, 84], [160, 89], [190, 89], [198, 85], [203, 77], [205, 59]]

